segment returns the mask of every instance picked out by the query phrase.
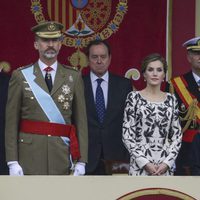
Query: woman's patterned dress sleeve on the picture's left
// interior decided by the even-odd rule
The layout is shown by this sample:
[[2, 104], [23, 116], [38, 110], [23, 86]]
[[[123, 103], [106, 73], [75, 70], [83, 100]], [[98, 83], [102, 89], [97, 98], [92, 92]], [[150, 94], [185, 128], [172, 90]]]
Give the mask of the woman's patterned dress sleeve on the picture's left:
[[130, 156], [136, 160], [140, 168], [143, 168], [149, 160], [141, 149], [142, 128], [140, 124], [141, 116], [137, 114], [138, 102], [139, 97], [136, 92], [133, 91], [128, 94], [124, 110], [122, 140]]

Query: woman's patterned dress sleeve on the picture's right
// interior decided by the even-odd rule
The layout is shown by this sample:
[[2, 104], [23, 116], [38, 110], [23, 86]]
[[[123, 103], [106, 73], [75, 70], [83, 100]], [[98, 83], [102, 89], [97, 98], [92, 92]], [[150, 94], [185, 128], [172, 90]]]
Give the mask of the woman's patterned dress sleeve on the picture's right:
[[169, 154], [163, 161], [169, 166], [169, 168], [172, 168], [175, 164], [175, 160], [181, 148], [182, 141], [182, 130], [179, 119], [178, 101], [174, 95], [172, 95], [172, 107], [173, 109], [171, 127], [169, 129], [168, 138], [166, 139], [166, 143], [169, 144]]

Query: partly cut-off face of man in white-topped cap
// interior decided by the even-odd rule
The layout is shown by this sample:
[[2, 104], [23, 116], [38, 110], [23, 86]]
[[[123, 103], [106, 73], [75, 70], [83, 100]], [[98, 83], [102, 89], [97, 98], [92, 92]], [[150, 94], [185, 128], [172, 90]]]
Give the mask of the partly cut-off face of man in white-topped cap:
[[188, 51], [187, 59], [191, 64], [192, 70], [200, 74], [200, 51]]

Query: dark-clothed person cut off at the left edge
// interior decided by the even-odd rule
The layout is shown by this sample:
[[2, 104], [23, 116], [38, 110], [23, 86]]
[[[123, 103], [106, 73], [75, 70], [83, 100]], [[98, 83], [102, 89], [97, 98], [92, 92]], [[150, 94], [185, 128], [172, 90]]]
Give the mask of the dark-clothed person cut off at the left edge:
[[8, 174], [5, 160], [5, 108], [9, 78], [9, 75], [0, 70], [0, 175]]

